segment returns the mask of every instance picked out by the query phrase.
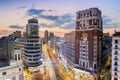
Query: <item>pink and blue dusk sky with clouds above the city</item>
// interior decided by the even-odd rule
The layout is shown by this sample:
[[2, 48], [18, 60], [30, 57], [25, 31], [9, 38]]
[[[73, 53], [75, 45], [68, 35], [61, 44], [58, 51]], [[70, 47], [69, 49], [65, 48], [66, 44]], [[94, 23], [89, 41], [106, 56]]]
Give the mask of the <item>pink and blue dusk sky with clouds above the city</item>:
[[120, 29], [120, 0], [0, 0], [0, 36], [25, 30], [27, 20], [37, 17], [44, 30], [63, 35], [75, 29], [76, 12], [97, 7], [102, 11], [104, 32]]

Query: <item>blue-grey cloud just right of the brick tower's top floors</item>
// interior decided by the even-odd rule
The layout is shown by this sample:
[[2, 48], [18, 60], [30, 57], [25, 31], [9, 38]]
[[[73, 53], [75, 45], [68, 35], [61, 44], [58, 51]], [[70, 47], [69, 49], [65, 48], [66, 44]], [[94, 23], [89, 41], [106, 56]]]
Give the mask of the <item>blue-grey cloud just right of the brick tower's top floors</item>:
[[106, 28], [115, 28], [115, 27], [119, 26], [119, 23], [114, 22], [112, 18], [110, 18], [110, 17], [108, 17], [106, 15], [103, 15], [102, 18], [103, 18], [103, 28], [104, 29], [106, 29]]

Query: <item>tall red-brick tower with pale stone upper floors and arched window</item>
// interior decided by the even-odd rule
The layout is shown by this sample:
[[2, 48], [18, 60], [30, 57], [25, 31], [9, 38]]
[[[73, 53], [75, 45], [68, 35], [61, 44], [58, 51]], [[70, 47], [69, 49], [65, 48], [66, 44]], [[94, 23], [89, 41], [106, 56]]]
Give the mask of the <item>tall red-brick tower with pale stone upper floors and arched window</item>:
[[79, 68], [97, 72], [102, 54], [102, 17], [98, 8], [77, 12], [75, 45], [75, 63]]

